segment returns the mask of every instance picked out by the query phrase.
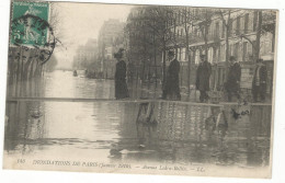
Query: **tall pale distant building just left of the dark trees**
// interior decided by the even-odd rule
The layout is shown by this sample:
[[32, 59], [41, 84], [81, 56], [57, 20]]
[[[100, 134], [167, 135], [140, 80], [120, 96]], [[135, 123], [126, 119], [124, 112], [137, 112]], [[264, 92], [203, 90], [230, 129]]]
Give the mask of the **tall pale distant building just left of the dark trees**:
[[110, 19], [100, 30], [98, 50], [100, 68], [104, 78], [114, 78], [116, 60], [113, 54], [123, 47], [124, 26], [123, 22]]

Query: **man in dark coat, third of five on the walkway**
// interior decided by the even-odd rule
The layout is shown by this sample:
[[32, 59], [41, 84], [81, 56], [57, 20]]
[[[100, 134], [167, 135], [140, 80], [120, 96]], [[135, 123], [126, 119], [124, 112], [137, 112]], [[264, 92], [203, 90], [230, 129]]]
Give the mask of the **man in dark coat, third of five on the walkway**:
[[200, 90], [200, 102], [205, 102], [208, 99], [207, 91], [209, 91], [209, 77], [212, 73], [212, 66], [207, 61], [205, 55], [201, 55], [201, 64], [196, 72], [196, 89]]

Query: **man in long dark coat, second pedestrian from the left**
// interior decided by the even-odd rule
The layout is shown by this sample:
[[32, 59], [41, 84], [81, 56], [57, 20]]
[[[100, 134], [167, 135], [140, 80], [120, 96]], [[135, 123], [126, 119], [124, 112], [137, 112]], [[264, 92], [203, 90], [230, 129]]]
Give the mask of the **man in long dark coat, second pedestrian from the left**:
[[180, 88], [179, 88], [179, 71], [180, 64], [174, 58], [174, 52], [168, 53], [169, 60], [171, 60], [168, 72], [167, 82], [163, 89], [162, 99], [181, 100]]

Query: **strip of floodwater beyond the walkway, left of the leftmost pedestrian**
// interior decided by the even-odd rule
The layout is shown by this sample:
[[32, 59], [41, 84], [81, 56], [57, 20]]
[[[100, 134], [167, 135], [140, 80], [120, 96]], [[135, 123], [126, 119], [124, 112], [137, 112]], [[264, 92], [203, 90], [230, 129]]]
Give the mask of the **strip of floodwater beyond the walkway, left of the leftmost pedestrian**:
[[114, 81], [88, 79], [71, 71], [45, 72], [42, 78], [32, 78], [8, 84], [8, 96], [91, 98], [114, 99]]

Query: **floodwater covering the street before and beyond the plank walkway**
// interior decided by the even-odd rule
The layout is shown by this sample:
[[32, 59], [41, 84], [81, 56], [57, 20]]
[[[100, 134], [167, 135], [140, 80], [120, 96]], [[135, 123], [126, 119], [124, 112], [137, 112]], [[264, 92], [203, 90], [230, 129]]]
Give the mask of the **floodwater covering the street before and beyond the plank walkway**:
[[[113, 99], [113, 85], [112, 80], [55, 71], [46, 73], [39, 87], [22, 90], [21, 95]], [[142, 105], [129, 101], [8, 102], [4, 152], [80, 156], [105, 162], [195, 162], [242, 168], [270, 164], [271, 105], [228, 105], [223, 116], [228, 126], [221, 123], [216, 128], [210, 116], [218, 116], [219, 106], [153, 102], [151, 107], [153, 123], [146, 123]], [[232, 108], [240, 112], [240, 118], [232, 117]]]

